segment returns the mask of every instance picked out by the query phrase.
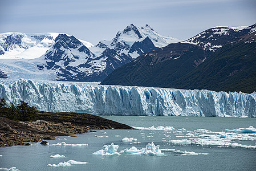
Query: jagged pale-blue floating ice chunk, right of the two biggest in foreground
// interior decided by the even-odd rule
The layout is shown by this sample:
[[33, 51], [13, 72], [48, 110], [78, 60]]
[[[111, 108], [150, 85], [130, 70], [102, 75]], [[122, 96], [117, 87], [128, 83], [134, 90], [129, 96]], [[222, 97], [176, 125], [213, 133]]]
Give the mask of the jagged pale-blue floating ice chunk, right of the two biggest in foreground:
[[148, 143], [146, 148], [137, 149], [135, 146], [132, 146], [130, 149], [125, 149], [121, 151], [123, 153], [135, 154], [135, 155], [145, 155], [145, 156], [163, 156], [164, 153], [159, 149], [159, 145], [155, 146], [155, 144]]

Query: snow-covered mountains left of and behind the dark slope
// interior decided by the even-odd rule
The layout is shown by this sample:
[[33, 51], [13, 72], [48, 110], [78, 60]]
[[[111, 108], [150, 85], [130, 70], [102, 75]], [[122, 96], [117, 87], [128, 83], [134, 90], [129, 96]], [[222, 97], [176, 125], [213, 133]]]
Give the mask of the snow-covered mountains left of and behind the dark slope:
[[145, 52], [180, 42], [133, 24], [96, 46], [54, 32], [0, 34], [0, 78], [100, 82]]

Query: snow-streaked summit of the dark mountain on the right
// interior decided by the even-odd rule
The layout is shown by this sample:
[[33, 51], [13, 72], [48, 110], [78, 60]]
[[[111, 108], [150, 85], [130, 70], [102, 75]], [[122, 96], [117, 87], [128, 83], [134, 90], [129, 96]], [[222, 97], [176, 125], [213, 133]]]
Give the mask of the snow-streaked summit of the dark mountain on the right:
[[216, 51], [227, 43], [233, 42], [239, 36], [249, 33], [255, 28], [252, 26], [241, 27], [214, 27], [181, 43], [190, 43], [201, 46], [206, 51]]

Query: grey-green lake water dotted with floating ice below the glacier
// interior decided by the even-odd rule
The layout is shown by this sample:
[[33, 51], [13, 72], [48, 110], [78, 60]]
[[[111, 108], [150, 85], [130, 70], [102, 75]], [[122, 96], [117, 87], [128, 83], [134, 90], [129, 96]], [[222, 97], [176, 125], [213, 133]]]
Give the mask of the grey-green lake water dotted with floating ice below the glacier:
[[[137, 130], [103, 130], [77, 137], [58, 137], [50, 145], [0, 148], [0, 168], [15, 166], [19, 170], [256, 170], [256, 134], [226, 132], [225, 129], [256, 128], [256, 118], [104, 116], [135, 127]], [[154, 127], [152, 127], [155, 125]], [[158, 126], [163, 126], [157, 128]], [[151, 128], [149, 128], [151, 127]], [[173, 129], [173, 128], [174, 129]], [[157, 128], [157, 129], [156, 129]], [[184, 128], [184, 129], [182, 129]], [[124, 142], [133, 137], [135, 142]], [[73, 145], [52, 145], [65, 142]], [[160, 145], [160, 156], [122, 153], [148, 143]], [[88, 145], [76, 145], [86, 143]], [[119, 145], [120, 155], [101, 156], [92, 153], [103, 145]], [[65, 158], [50, 158], [55, 154]], [[2, 156], [1, 156], [2, 155]], [[75, 160], [87, 164], [52, 167], [48, 164]]]

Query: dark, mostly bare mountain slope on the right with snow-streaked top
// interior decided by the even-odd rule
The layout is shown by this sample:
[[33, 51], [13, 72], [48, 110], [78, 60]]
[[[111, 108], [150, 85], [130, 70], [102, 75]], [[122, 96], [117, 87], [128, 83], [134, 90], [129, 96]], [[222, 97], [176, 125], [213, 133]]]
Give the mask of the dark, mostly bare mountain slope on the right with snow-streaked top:
[[117, 68], [101, 84], [256, 91], [256, 24], [214, 27]]

